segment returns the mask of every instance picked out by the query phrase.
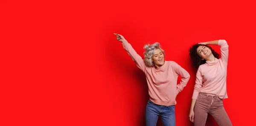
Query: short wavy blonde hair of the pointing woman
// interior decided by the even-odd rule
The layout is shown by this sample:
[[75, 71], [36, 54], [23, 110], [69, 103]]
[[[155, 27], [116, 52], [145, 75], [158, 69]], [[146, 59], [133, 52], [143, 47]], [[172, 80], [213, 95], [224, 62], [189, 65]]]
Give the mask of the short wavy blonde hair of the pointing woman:
[[163, 52], [163, 56], [165, 56], [165, 51], [160, 47], [160, 43], [155, 42], [154, 44], [146, 44], [144, 45], [145, 52], [144, 54], [144, 62], [146, 66], [153, 67], [154, 63], [152, 62], [152, 56], [154, 55], [154, 50], [160, 49]]

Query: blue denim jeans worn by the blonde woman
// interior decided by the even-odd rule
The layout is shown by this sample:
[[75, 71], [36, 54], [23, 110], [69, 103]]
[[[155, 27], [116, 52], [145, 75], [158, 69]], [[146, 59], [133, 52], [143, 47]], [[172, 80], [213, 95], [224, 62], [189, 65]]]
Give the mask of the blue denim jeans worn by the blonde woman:
[[160, 116], [163, 126], [176, 126], [175, 105], [161, 106], [148, 100], [145, 111], [146, 126], [156, 126]]

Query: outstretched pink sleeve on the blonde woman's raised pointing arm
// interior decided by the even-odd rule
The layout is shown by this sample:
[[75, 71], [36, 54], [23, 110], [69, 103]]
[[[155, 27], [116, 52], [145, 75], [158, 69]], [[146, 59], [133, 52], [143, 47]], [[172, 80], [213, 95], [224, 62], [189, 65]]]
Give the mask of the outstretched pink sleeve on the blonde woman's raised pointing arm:
[[145, 73], [146, 65], [143, 59], [141, 58], [141, 56], [137, 54], [134, 48], [132, 48], [131, 44], [128, 43], [127, 41], [122, 42], [122, 45], [123, 45], [123, 48], [126, 50], [126, 52], [129, 54], [129, 56], [131, 57], [131, 59], [135, 62], [137, 67], [139, 67], [140, 70], [142, 70]]

